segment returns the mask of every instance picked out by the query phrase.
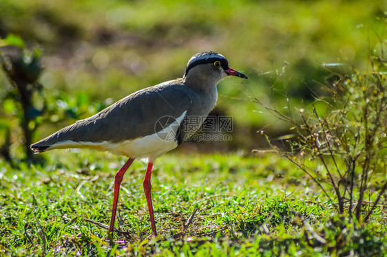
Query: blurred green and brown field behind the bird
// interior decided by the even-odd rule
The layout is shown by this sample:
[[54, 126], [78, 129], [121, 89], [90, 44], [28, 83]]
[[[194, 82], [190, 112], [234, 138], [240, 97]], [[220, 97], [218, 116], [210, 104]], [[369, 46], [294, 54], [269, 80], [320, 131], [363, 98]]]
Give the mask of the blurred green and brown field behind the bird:
[[[260, 129], [275, 136], [288, 129], [253, 98], [284, 111], [289, 98], [291, 108], [301, 108], [331, 69], [370, 69], [368, 54], [381, 48], [377, 35], [386, 31], [384, 10], [385, 1], [2, 0], [0, 36], [19, 35], [41, 51], [39, 81], [50, 116], [36, 140], [138, 89], [181, 77], [193, 54], [213, 50], [249, 76], [218, 85], [214, 113], [233, 115], [233, 140], [183, 150], [249, 151], [264, 147]], [[3, 100], [11, 88], [3, 72], [0, 85]], [[17, 145], [17, 110], [5, 102], [0, 119]]]

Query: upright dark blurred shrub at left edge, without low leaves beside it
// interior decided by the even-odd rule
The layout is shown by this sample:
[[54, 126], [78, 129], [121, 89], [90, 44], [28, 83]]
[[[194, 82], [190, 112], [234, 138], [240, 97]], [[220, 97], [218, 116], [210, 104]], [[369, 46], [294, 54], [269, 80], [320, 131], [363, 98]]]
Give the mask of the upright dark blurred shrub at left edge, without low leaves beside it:
[[[42, 86], [38, 78], [43, 71], [39, 50], [32, 53], [25, 48], [24, 41], [13, 34], [0, 41], [0, 64], [6, 73], [12, 87], [2, 97], [2, 109], [12, 118], [1, 120], [1, 130], [6, 131], [5, 140], [1, 146], [1, 155], [11, 161], [10, 153], [12, 120], [17, 118], [23, 138], [23, 152], [25, 159], [31, 162], [34, 159], [30, 144], [32, 135], [38, 124], [36, 118], [41, 115], [42, 109], [36, 107], [35, 92], [41, 92]], [[44, 104], [43, 104], [44, 107]]]

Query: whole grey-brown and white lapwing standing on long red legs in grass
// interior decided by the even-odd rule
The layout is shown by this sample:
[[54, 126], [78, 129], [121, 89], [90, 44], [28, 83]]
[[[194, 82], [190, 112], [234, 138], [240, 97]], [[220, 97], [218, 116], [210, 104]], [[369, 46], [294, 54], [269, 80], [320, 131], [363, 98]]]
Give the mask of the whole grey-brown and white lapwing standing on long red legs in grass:
[[[182, 78], [147, 87], [119, 100], [85, 120], [32, 144], [35, 153], [63, 148], [92, 148], [129, 157], [114, 179], [114, 199], [109, 232], [114, 230], [118, 193], [125, 172], [136, 158], [147, 158], [143, 182], [151, 229], [157, 235], [151, 200], [151, 170], [160, 155], [189, 139], [218, 98], [216, 85], [228, 76], [247, 78], [231, 69], [224, 56], [201, 52], [188, 61]], [[192, 126], [190, 126], [192, 125]]]

